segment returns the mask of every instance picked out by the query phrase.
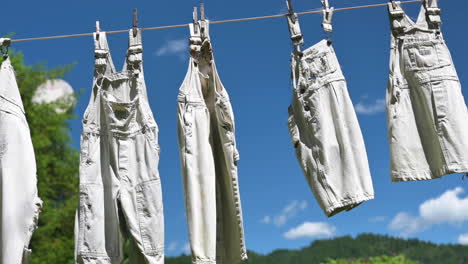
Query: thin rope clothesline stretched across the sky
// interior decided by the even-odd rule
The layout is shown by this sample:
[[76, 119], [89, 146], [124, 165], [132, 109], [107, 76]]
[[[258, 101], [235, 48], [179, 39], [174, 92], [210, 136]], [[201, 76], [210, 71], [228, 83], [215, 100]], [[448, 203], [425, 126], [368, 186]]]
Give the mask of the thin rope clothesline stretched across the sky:
[[[421, 0], [401, 1], [402, 4], [409, 4], [409, 3], [416, 3], [416, 2], [421, 2]], [[336, 8], [336, 9], [335, 9], [335, 12], [336, 12], [336, 11], [346, 11], [346, 10], [364, 9], [364, 8], [373, 8], [373, 7], [382, 7], [382, 6], [387, 6], [387, 3]], [[312, 10], [312, 11], [305, 11], [305, 12], [297, 12], [296, 14], [297, 14], [297, 15], [310, 15], [310, 14], [321, 14], [321, 13], [322, 13], [322, 9], [320, 9], [320, 10]], [[228, 19], [228, 20], [210, 21], [210, 24], [215, 25], [215, 24], [242, 22], [242, 21], [262, 20], [262, 19], [270, 19], [270, 18], [285, 17], [285, 16], [287, 16], [287, 15], [288, 15], [288, 14], [278, 14], [278, 15], [270, 15], [270, 16], [258, 16], [258, 17], [248, 17], [248, 18], [235, 18], [235, 19]], [[160, 30], [160, 29], [170, 29], [170, 28], [182, 28], [182, 27], [188, 27], [188, 25], [189, 25], [189, 24], [169, 25], [169, 26], [159, 26], [159, 27], [148, 27], [148, 28], [141, 28], [141, 31]], [[125, 29], [125, 30], [114, 30], [114, 31], [106, 31], [106, 34], [118, 34], [118, 33], [126, 33], [126, 32], [128, 32], [127, 29]], [[25, 42], [25, 41], [33, 41], [33, 40], [75, 38], [75, 37], [86, 37], [86, 36], [92, 36], [92, 35], [93, 35], [93, 33], [69, 34], [69, 35], [59, 35], [59, 36], [49, 36], [49, 37], [35, 37], [35, 38], [12, 39], [11, 42]]]

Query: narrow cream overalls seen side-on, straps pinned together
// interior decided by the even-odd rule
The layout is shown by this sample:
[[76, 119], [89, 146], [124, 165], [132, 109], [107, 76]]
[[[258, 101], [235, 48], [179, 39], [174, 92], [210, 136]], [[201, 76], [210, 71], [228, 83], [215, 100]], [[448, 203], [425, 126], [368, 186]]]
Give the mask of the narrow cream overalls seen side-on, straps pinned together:
[[178, 135], [192, 258], [195, 264], [234, 264], [247, 259], [234, 115], [216, 71], [208, 23], [201, 41], [193, 24], [190, 29]]

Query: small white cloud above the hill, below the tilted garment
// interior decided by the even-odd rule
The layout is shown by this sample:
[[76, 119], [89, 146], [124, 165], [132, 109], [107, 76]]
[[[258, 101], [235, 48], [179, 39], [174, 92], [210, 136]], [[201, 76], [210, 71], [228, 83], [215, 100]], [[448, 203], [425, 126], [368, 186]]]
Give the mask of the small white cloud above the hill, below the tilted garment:
[[304, 222], [300, 226], [290, 229], [283, 236], [287, 239], [332, 237], [336, 234], [336, 227], [324, 222]]

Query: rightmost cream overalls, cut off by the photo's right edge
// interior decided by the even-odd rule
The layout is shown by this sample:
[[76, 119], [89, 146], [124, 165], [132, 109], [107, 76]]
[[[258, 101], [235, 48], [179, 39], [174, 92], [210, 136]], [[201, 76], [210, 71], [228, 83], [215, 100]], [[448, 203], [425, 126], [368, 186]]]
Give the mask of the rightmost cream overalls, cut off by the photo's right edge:
[[389, 3], [389, 14], [391, 179], [429, 180], [468, 172], [468, 112], [440, 32], [436, 1], [421, 7], [417, 22], [399, 2]]

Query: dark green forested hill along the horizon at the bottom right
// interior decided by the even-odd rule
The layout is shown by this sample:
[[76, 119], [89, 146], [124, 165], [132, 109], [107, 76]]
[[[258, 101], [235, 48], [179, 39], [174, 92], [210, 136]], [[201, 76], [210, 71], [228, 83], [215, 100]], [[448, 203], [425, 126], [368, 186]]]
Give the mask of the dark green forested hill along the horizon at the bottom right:
[[[299, 250], [275, 250], [268, 255], [249, 252], [249, 264], [320, 264], [327, 259], [357, 259], [404, 255], [421, 264], [468, 264], [468, 246], [437, 245], [417, 239], [362, 234], [317, 240]], [[167, 258], [166, 264], [190, 263], [189, 256]]]

